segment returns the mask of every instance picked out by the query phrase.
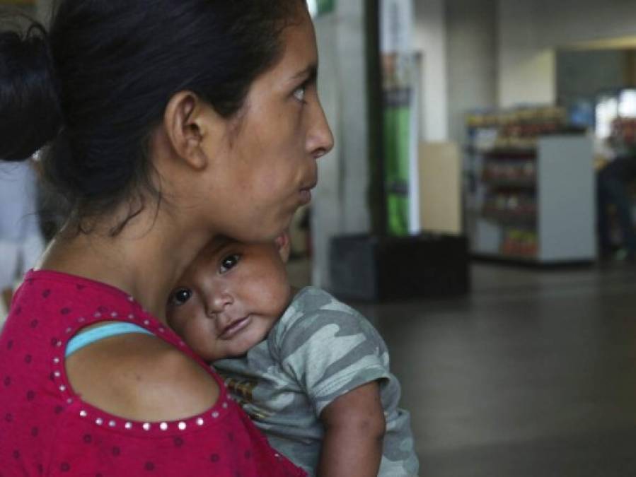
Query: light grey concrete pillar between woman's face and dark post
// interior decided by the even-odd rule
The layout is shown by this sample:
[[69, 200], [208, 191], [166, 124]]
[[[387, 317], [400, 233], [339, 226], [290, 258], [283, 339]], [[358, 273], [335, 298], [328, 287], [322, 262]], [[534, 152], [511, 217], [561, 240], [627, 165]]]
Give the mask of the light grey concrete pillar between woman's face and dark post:
[[364, 44], [364, 0], [338, 1], [316, 18], [318, 89], [335, 137], [318, 161], [312, 204], [313, 284], [329, 288], [329, 242], [335, 235], [369, 232], [369, 129]]

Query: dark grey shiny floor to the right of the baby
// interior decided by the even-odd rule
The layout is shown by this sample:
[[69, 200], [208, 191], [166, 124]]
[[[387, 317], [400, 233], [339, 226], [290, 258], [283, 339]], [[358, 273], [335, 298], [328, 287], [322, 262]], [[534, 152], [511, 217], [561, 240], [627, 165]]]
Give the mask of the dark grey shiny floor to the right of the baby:
[[358, 304], [422, 477], [636, 476], [636, 267], [473, 267], [461, 299]]

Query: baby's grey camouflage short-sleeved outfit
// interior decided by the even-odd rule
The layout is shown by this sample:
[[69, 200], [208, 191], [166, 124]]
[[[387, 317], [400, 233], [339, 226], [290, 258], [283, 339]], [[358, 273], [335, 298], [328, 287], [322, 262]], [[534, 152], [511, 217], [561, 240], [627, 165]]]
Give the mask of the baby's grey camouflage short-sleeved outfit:
[[378, 381], [386, 418], [379, 476], [417, 476], [407, 411], [388, 351], [361, 314], [320, 288], [303, 288], [267, 338], [241, 358], [214, 363], [272, 447], [315, 475], [320, 413], [338, 396]]

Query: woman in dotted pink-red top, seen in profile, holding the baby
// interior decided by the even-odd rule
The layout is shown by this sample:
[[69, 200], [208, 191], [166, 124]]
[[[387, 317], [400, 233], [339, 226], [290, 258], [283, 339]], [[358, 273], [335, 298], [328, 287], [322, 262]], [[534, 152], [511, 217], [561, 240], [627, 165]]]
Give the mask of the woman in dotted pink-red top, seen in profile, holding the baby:
[[[0, 473], [302, 475], [164, 309], [212, 237], [272, 240], [311, 200], [316, 66], [301, 0], [66, 0], [0, 34], [0, 158], [50, 143], [70, 210], [0, 336]], [[147, 333], [67, 349], [112, 322]]]

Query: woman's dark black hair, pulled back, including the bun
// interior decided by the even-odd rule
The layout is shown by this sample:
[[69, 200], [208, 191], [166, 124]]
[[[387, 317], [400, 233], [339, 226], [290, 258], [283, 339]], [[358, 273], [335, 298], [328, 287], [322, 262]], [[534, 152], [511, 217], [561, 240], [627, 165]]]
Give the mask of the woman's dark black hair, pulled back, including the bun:
[[[303, 0], [62, 0], [50, 32], [0, 33], [0, 158], [42, 146], [45, 178], [71, 218], [143, 208], [149, 135], [170, 98], [190, 90], [223, 117], [282, 54]], [[139, 194], [138, 194], [139, 193]], [[141, 201], [139, 201], [141, 199]], [[135, 204], [134, 206], [132, 204]], [[85, 230], [86, 231], [86, 230]]]

